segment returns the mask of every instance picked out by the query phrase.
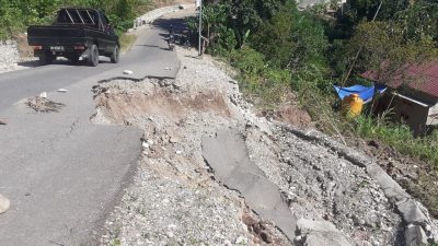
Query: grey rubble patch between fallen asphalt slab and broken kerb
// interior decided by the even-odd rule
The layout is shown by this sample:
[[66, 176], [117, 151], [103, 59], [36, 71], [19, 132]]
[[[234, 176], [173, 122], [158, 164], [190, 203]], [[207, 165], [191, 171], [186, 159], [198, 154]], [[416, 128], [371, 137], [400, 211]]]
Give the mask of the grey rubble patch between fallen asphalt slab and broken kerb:
[[278, 136], [281, 186], [300, 218], [335, 224], [357, 245], [401, 245], [401, 219], [365, 169], [336, 152], [285, 132]]

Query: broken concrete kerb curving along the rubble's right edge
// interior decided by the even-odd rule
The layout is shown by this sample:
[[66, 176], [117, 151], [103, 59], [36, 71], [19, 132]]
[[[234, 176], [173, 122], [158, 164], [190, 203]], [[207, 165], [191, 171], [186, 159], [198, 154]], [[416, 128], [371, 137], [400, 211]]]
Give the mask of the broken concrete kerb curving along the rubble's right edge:
[[422, 246], [427, 243], [438, 243], [438, 231], [433, 227], [427, 209], [412, 198], [411, 195], [392, 179], [391, 176], [376, 163], [376, 160], [331, 139], [328, 136], [318, 130], [302, 130], [278, 121], [275, 124], [300, 139], [316, 141], [330, 148], [354, 165], [365, 168], [367, 174], [377, 180], [388, 200], [395, 206], [397, 213], [403, 219], [407, 246]]

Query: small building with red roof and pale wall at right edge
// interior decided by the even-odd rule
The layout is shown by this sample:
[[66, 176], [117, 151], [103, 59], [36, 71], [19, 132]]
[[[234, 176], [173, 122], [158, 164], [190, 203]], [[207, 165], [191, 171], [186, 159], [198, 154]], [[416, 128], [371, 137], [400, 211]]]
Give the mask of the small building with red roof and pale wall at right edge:
[[385, 81], [374, 72], [362, 77], [391, 89], [379, 108], [393, 108], [393, 118], [410, 126], [414, 133], [425, 133], [438, 125], [438, 61], [406, 66]]

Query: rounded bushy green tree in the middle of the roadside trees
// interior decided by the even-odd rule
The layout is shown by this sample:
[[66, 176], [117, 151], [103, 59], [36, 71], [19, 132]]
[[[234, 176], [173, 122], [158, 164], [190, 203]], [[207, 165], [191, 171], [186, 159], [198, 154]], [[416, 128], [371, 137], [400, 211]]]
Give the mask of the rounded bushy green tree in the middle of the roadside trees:
[[263, 52], [270, 65], [292, 73], [302, 68], [326, 70], [327, 38], [323, 25], [308, 12], [300, 12], [288, 1], [269, 22], [253, 35], [253, 46]]

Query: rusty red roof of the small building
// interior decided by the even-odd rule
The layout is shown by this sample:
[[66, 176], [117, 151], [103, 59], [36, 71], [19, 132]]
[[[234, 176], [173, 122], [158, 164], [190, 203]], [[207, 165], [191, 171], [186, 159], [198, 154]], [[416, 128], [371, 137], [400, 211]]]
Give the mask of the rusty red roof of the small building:
[[[405, 66], [400, 69], [394, 78], [387, 80], [387, 85], [397, 89], [402, 85], [423, 92], [438, 98], [438, 61], [423, 65]], [[373, 71], [362, 73], [362, 77], [377, 82], [385, 82], [384, 79]]]

